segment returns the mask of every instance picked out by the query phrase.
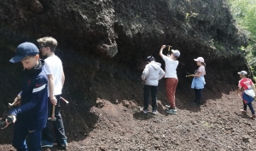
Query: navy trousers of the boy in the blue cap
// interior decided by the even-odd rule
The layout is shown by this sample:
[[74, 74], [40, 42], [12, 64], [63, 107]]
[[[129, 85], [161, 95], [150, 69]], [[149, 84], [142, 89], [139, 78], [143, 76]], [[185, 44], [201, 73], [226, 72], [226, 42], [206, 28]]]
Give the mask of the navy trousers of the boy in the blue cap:
[[17, 121], [12, 144], [17, 151], [41, 151], [41, 134], [42, 130], [28, 130]]

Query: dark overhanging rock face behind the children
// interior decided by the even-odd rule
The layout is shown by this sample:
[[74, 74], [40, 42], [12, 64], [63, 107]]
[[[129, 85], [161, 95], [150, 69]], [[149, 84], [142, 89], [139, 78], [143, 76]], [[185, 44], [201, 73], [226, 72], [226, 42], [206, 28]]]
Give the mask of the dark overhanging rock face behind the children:
[[[96, 97], [92, 84], [98, 78], [129, 77], [129, 70], [140, 73], [147, 55], [164, 63], [158, 56], [162, 44], [181, 51], [179, 84], [188, 83], [184, 74], [195, 71], [193, 59], [198, 56], [207, 62], [207, 87], [212, 90], [223, 81], [235, 84], [237, 71], [247, 70], [237, 49], [247, 45], [247, 38], [234, 25], [223, 0], [1, 1], [0, 52], [4, 57], [0, 66], [6, 74], [0, 75], [15, 78], [20, 65], [8, 64], [14, 66], [8, 68], [11, 73], [5, 67], [15, 47], [44, 36], [58, 40], [56, 54], [67, 75], [66, 91], [81, 99]], [[123, 67], [128, 71], [117, 72]], [[7, 81], [2, 84], [8, 85]], [[19, 90], [15, 86], [5, 87], [14, 90], [5, 100]]]

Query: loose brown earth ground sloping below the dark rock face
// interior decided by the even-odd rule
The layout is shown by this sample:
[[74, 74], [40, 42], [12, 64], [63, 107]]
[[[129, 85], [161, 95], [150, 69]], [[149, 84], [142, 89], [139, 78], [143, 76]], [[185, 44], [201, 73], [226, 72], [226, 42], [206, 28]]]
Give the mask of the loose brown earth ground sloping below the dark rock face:
[[[203, 90], [202, 105], [195, 107], [190, 103], [194, 98], [188, 89], [190, 79], [186, 80], [187, 84], [177, 87], [177, 115], [165, 113], [164, 79], [156, 115], [141, 112], [143, 84], [125, 78], [99, 81], [96, 90], [101, 97], [95, 106], [88, 108], [75, 100], [62, 105], [67, 150], [255, 150], [255, 120], [249, 118], [249, 109], [247, 114], [240, 113], [236, 85]], [[0, 150], [15, 150], [11, 136], [4, 137]]]

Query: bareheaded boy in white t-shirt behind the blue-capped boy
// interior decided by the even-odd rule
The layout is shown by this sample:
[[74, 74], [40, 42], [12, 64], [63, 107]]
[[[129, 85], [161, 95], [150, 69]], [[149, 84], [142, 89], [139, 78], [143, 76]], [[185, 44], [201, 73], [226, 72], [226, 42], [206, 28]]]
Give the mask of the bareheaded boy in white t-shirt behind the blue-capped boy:
[[[47, 125], [42, 134], [42, 147], [52, 147], [56, 141], [61, 149], [67, 148], [67, 136], [65, 135], [64, 125], [60, 113], [61, 90], [65, 81], [61, 59], [55, 55], [57, 41], [55, 38], [44, 37], [38, 39], [39, 48], [43, 55], [47, 58], [44, 60], [44, 72], [49, 78], [49, 117], [52, 112], [52, 107], [55, 106], [55, 118], [53, 121], [55, 129], [55, 138], [51, 131], [51, 122], [47, 121]], [[56, 139], [56, 140], [55, 140]]]

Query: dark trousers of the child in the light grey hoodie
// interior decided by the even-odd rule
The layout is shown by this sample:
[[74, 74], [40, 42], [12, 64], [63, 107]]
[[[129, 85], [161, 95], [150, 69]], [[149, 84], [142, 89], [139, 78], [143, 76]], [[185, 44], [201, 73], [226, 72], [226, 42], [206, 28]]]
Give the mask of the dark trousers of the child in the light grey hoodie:
[[152, 97], [152, 109], [157, 110], [157, 104], [156, 104], [157, 90], [158, 90], [158, 86], [144, 84], [144, 108], [143, 108], [144, 110], [148, 109], [148, 99], [149, 99], [150, 92]]

